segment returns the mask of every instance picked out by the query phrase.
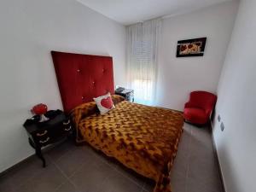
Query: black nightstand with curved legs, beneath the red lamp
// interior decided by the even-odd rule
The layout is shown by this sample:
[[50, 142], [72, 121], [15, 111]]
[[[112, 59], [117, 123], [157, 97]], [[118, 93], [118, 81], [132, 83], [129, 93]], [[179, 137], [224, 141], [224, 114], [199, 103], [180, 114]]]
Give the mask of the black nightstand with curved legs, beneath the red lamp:
[[61, 141], [73, 133], [69, 117], [61, 110], [51, 110], [44, 115], [49, 120], [38, 122], [38, 115], [35, 115], [33, 119], [26, 119], [23, 125], [28, 135], [28, 142], [32, 148], [35, 148], [38, 158], [43, 161], [43, 167], [45, 167], [45, 160], [41, 148]]

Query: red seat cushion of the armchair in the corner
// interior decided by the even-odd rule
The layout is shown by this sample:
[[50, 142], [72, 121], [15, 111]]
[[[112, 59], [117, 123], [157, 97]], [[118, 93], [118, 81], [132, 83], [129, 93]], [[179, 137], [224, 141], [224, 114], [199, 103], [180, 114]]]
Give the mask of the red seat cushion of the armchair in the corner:
[[195, 124], [207, 123], [207, 114], [201, 108], [184, 108], [184, 119], [189, 120]]

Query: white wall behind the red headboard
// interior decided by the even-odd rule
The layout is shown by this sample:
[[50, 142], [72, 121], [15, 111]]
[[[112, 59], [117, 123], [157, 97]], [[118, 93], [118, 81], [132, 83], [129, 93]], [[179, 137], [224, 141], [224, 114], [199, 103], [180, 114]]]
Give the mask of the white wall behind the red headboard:
[[75, 0], [0, 2], [0, 172], [33, 153], [22, 123], [38, 102], [61, 108], [52, 49], [111, 55], [125, 84], [125, 27]]

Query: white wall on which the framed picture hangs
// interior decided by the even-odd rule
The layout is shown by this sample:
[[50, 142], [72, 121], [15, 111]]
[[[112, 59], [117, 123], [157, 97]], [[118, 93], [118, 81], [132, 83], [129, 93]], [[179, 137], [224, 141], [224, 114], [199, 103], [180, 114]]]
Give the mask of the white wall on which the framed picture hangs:
[[[238, 2], [166, 18], [160, 41], [157, 105], [183, 110], [191, 90], [216, 92]], [[203, 57], [176, 57], [177, 41], [207, 37]]]

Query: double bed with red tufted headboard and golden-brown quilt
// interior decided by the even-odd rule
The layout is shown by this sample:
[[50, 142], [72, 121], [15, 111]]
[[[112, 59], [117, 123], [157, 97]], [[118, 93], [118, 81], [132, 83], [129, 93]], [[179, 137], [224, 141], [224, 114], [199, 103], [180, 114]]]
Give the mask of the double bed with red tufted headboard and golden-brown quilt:
[[112, 58], [55, 51], [52, 56], [63, 108], [81, 139], [154, 179], [154, 192], [171, 191], [169, 173], [183, 132], [183, 113], [113, 95], [115, 108], [101, 115], [92, 98], [113, 94]]

